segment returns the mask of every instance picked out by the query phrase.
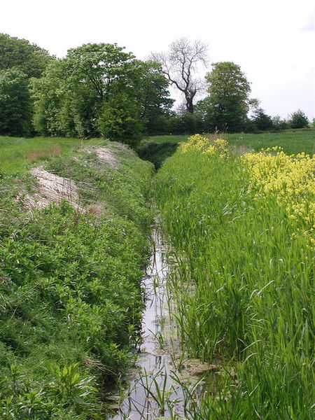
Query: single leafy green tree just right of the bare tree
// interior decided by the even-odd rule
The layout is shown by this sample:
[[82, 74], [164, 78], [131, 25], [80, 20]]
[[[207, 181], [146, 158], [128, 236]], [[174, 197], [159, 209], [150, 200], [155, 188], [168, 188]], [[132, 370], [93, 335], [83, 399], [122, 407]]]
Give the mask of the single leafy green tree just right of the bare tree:
[[212, 129], [242, 131], [251, 92], [248, 80], [235, 63], [218, 62], [212, 67], [206, 76], [209, 96], [202, 102], [204, 118]]

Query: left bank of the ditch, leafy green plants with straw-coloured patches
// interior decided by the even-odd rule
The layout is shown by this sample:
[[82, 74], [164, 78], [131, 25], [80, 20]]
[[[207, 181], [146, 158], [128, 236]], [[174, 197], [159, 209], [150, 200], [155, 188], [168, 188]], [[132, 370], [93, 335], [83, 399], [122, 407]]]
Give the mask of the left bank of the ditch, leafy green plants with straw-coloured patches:
[[[104, 418], [102, 393], [138, 336], [152, 167], [118, 144], [40, 141], [1, 143], [0, 417]], [[73, 180], [76, 205], [36, 208], [26, 169], [41, 151], [45, 170]]]

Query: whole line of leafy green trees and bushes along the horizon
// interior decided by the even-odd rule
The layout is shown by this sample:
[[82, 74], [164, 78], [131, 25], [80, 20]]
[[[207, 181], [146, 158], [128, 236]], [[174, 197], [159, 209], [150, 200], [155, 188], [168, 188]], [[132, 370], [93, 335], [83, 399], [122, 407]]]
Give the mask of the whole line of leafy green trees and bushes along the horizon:
[[[187, 40], [183, 45], [189, 62], [192, 47]], [[232, 62], [212, 64], [207, 96], [193, 104], [193, 95], [189, 109], [172, 111], [174, 83], [158, 58], [141, 61], [117, 44], [89, 43], [57, 59], [25, 39], [0, 34], [0, 134], [104, 136], [137, 146], [144, 134], [256, 132], [309, 123], [300, 110], [288, 120], [268, 116]], [[186, 96], [196, 89], [188, 85]]]

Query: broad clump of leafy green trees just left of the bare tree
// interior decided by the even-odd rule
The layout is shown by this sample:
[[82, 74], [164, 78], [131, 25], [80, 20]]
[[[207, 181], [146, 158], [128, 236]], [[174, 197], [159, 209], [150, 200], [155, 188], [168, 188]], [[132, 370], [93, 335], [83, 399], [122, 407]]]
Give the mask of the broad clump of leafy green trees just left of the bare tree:
[[172, 106], [168, 82], [116, 44], [86, 44], [52, 62], [33, 82], [34, 126], [42, 135], [104, 134], [136, 145]]

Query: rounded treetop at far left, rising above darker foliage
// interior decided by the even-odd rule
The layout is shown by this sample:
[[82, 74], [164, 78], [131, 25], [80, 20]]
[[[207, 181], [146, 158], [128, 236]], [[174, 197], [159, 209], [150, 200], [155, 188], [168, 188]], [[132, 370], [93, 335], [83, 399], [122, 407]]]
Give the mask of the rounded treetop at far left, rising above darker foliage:
[[37, 78], [51, 59], [48, 51], [26, 39], [0, 34], [0, 70], [15, 69]]

